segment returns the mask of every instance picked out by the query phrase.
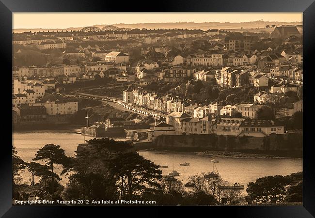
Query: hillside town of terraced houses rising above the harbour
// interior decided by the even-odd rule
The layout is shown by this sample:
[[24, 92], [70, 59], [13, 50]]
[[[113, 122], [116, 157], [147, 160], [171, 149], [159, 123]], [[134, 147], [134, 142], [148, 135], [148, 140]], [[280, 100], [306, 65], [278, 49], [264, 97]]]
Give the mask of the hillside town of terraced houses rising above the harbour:
[[[82, 97], [106, 98], [155, 118], [145, 133], [148, 140], [159, 135], [294, 132], [299, 128], [293, 129], [291, 118], [302, 112], [303, 104], [301, 31], [296, 26], [265, 29], [108, 26], [13, 33], [13, 122], [66, 124], [78, 112], [76, 98]], [[75, 94], [86, 94], [89, 86], [88, 93], [96, 97]], [[51, 94], [75, 98], [44, 97]]]

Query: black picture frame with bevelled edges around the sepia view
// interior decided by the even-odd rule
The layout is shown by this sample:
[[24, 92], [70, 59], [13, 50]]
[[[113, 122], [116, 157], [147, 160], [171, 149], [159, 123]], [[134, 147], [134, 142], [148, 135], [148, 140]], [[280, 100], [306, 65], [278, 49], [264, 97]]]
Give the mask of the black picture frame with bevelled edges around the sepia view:
[[[218, 0], [160, 0], [158, 2], [118, 2], [104, 0], [0, 0], [0, 39], [2, 49], [0, 52], [2, 62], [3, 84], [9, 84], [12, 71], [12, 13], [14, 12], [303, 12], [303, 69], [306, 72], [304, 78], [304, 98], [312, 95], [311, 81], [314, 77], [314, 68], [312, 68], [312, 58], [315, 51], [315, 2], [314, 0], [237, 0], [237, 1], [218, 1]], [[312, 75], [313, 73], [313, 75]], [[5, 86], [4, 86], [5, 87]], [[7, 90], [5, 88], [4, 90]], [[309, 92], [307, 92], [309, 91]], [[11, 114], [9, 105], [11, 96], [9, 92], [4, 91], [2, 101], [6, 107], [4, 111]], [[306, 97], [305, 97], [306, 96]], [[10, 102], [9, 102], [10, 101]], [[303, 134], [303, 206], [213, 206], [213, 207], [176, 207], [173, 209], [182, 209], [191, 212], [194, 209], [206, 210], [203, 212], [211, 213], [214, 216], [221, 216], [229, 212], [233, 217], [277, 217], [277, 218], [298, 218], [315, 216], [315, 170], [314, 170], [314, 153], [312, 152], [313, 139], [311, 138], [312, 115], [309, 113], [312, 101], [304, 101], [304, 134]], [[5, 115], [4, 115], [5, 114]], [[2, 116], [6, 116], [2, 112]], [[308, 116], [308, 114], [310, 116]], [[11, 122], [11, 121], [10, 121]], [[3, 123], [6, 124], [6, 123]], [[10, 123], [9, 123], [10, 124]], [[4, 131], [8, 131], [7, 125], [2, 125]], [[310, 125], [311, 126], [311, 125]], [[12, 206], [12, 157], [11, 133], [2, 133], [1, 152], [1, 170], [0, 170], [0, 216], [3, 217], [56, 217], [70, 211], [71, 216], [82, 217], [83, 210], [88, 208], [94, 213], [101, 213], [103, 207], [79, 207], [79, 206]], [[5, 140], [3, 140], [5, 139]], [[10, 140], [11, 139], [11, 140]], [[9, 141], [3, 143], [3, 141]], [[122, 207], [119, 207], [122, 208]], [[121, 214], [124, 210], [117, 207], [107, 207], [106, 210]], [[144, 207], [145, 209], [157, 209], [157, 207]], [[165, 207], [164, 207], [165, 208]], [[119, 209], [119, 212], [118, 210]], [[126, 213], [140, 213], [137, 208], [124, 208]], [[139, 209], [139, 208], [138, 208]], [[193, 209], [193, 210], [191, 210]], [[210, 211], [208, 211], [210, 210]], [[89, 213], [90, 213], [89, 211]], [[176, 210], [177, 211], [177, 210]], [[216, 213], [220, 215], [215, 215]], [[142, 212], [143, 213], [143, 210]], [[194, 213], [194, 212], [193, 212]], [[213, 214], [212, 214], [213, 213]], [[76, 215], [77, 214], [77, 215]], [[202, 216], [198, 211], [199, 216]], [[90, 214], [91, 215], [91, 214]], [[312, 216], [313, 215], [313, 216]]]

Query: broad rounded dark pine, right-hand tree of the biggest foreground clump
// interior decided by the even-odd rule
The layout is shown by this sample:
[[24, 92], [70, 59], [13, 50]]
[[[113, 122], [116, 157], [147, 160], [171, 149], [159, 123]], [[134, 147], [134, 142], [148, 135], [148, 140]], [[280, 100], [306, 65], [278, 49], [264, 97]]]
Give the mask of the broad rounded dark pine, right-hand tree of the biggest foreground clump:
[[123, 196], [129, 199], [145, 187], [159, 187], [162, 171], [137, 152], [119, 153], [109, 161], [110, 174], [116, 179]]

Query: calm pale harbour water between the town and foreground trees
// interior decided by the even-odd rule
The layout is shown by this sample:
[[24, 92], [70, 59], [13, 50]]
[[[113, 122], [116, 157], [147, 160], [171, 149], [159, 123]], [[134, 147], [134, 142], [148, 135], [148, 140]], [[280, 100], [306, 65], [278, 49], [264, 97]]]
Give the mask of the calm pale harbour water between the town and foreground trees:
[[[85, 140], [93, 137], [85, 137]], [[117, 139], [126, 140], [126, 139]], [[84, 142], [84, 136], [80, 134], [63, 133], [63, 131], [37, 131], [19, 132], [13, 134], [13, 145], [16, 147], [18, 156], [25, 161], [31, 161], [36, 151], [45, 144], [58, 144], [63, 148], [67, 156], [74, 156], [79, 143]], [[212, 171], [214, 165], [211, 162], [213, 157], [196, 155], [188, 152], [169, 151], [139, 151], [139, 154], [150, 159], [157, 165], [168, 165], [168, 168], [160, 168], [163, 175], [167, 175], [173, 170], [180, 172], [177, 178], [185, 184], [192, 174]], [[249, 182], [254, 182], [257, 178], [268, 175], [287, 175], [292, 172], [302, 171], [301, 158], [278, 158], [278, 159], [248, 159], [216, 157], [219, 163], [215, 166], [221, 177], [231, 183], [239, 182], [244, 185], [244, 190]], [[180, 163], [187, 162], [189, 166], [179, 166]], [[216, 171], [216, 168], [215, 171]], [[22, 175], [25, 182], [29, 181], [30, 173], [24, 172]], [[61, 183], [66, 184], [67, 179], [62, 177]]]

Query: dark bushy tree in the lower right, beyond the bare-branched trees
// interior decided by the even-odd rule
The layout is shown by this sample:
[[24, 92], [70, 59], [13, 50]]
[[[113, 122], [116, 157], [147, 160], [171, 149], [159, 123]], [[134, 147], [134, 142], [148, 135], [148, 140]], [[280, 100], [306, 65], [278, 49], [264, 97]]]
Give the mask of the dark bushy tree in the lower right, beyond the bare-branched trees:
[[250, 182], [246, 188], [252, 202], [282, 202], [286, 194], [285, 186], [291, 182], [290, 178], [282, 175], [266, 176]]

